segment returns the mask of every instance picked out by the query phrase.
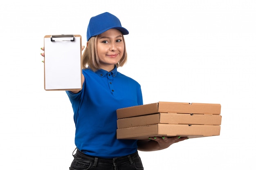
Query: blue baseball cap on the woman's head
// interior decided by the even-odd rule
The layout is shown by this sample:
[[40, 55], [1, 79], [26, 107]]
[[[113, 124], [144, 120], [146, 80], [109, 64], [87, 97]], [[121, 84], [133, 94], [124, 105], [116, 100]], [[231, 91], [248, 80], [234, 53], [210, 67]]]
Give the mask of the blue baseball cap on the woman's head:
[[105, 12], [90, 19], [87, 29], [87, 41], [91, 37], [104, 33], [109, 29], [118, 29], [124, 35], [129, 33], [127, 29], [121, 26], [120, 20], [115, 15]]

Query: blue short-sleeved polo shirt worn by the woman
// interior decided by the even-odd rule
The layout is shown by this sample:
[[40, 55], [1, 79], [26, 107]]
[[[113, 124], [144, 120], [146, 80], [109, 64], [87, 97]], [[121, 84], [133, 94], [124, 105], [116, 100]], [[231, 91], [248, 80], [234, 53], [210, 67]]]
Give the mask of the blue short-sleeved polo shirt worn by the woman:
[[82, 71], [85, 82], [79, 93], [66, 91], [74, 110], [76, 147], [87, 155], [114, 158], [137, 151], [137, 140], [117, 139], [119, 108], [142, 105], [138, 82], [117, 71]]

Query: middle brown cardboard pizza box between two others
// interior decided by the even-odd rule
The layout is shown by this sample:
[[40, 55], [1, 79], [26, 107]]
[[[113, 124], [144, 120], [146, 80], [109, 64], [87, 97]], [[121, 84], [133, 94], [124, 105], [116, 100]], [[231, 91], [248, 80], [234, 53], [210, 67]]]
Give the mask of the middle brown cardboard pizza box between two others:
[[202, 124], [220, 125], [221, 115], [203, 115], [187, 113], [156, 113], [117, 119], [117, 128], [130, 128], [152, 124]]

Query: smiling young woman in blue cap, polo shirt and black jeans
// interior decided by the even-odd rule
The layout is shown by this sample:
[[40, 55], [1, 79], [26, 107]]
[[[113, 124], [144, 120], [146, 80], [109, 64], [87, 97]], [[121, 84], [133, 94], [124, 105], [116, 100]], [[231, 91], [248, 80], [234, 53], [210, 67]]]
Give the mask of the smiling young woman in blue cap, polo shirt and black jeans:
[[139, 83], [117, 71], [127, 60], [124, 35], [128, 33], [108, 12], [90, 19], [82, 60], [83, 88], [66, 91], [76, 125], [76, 153], [70, 170], [143, 170], [137, 150], [161, 150], [187, 139], [116, 138], [116, 110], [143, 104]]

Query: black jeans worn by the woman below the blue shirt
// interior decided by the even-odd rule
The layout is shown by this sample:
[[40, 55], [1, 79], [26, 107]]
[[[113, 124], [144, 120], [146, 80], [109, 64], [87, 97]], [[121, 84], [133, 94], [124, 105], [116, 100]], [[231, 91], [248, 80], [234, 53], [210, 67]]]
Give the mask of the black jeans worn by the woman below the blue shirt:
[[138, 152], [124, 157], [102, 159], [76, 150], [70, 170], [144, 170]]

